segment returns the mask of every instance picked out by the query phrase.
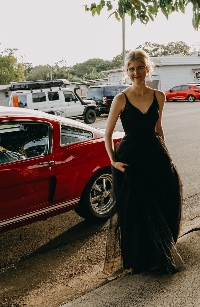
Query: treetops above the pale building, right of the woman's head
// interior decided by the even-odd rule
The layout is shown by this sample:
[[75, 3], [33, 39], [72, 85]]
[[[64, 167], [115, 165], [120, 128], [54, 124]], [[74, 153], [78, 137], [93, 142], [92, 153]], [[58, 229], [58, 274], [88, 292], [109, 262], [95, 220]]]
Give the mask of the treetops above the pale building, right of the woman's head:
[[190, 54], [190, 47], [183, 41], [177, 41], [176, 43], [172, 41], [167, 45], [159, 45], [146, 41], [136, 49], [143, 49], [151, 57], [168, 56], [174, 53], [181, 53], [184, 56]]

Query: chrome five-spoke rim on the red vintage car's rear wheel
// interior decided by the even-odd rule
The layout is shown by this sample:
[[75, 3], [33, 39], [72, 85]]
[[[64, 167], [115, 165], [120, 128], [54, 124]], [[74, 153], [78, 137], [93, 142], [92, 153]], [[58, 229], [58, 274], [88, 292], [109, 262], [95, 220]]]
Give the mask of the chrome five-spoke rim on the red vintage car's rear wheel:
[[113, 204], [111, 202], [112, 175], [103, 174], [98, 177], [90, 191], [90, 204], [92, 209], [98, 214], [108, 213]]

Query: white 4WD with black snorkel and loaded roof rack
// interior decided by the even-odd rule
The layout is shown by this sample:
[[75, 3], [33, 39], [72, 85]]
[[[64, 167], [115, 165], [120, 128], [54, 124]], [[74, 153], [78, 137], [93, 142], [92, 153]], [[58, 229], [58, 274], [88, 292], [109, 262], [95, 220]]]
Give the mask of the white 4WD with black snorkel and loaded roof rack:
[[[83, 119], [92, 124], [99, 108], [94, 100], [83, 100], [61, 80], [12, 83], [9, 106], [25, 107], [71, 119]], [[16, 100], [17, 99], [17, 100]], [[17, 102], [16, 102], [17, 101]]]

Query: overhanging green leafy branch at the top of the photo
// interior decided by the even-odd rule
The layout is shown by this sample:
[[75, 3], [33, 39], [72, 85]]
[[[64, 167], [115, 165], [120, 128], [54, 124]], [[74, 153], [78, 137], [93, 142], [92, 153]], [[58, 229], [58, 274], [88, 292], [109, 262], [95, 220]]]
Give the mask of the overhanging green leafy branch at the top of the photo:
[[[159, 9], [167, 19], [174, 11], [180, 10], [184, 14], [186, 6], [191, 2], [193, 28], [198, 31], [200, 26], [200, 0], [112, 0], [112, 2], [115, 2], [118, 7], [108, 17], [114, 15], [120, 21], [120, 17], [124, 19], [125, 14], [128, 14], [131, 17], [131, 25], [137, 18], [145, 25], [150, 19], [154, 21]], [[101, 0], [98, 5], [96, 3], [92, 3], [90, 7], [87, 4], [84, 5], [85, 11], [90, 11], [92, 16], [96, 13], [100, 15], [105, 6], [108, 11], [113, 9], [111, 1], [104, 0]]]

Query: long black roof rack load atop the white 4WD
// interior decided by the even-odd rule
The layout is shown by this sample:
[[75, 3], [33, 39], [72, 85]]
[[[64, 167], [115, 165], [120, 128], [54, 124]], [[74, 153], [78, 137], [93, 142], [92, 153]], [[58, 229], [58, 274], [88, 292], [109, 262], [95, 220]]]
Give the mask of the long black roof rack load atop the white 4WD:
[[33, 90], [37, 88], [47, 88], [57, 86], [63, 86], [62, 80], [36, 80], [36, 81], [23, 81], [23, 82], [12, 82], [10, 85], [10, 91], [15, 90]]

